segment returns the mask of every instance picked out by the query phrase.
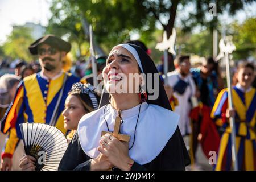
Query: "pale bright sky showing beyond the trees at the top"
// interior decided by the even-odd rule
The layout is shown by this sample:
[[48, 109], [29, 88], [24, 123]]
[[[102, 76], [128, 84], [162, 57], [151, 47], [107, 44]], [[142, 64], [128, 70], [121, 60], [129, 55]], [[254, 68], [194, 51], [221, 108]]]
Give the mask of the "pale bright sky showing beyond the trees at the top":
[[[0, 45], [5, 42], [7, 35], [13, 30], [13, 25], [22, 25], [26, 22], [40, 23], [47, 26], [48, 19], [51, 17], [49, 7], [52, 0], [0, 0]], [[190, 7], [193, 9], [193, 7]], [[246, 6], [245, 10], [240, 10], [233, 18], [228, 14], [220, 17], [222, 23], [230, 23], [237, 19], [243, 22], [246, 17], [256, 16], [256, 2]], [[187, 10], [177, 13], [176, 20], [179, 22], [179, 16], [185, 16]], [[158, 26], [157, 26], [158, 27]]]

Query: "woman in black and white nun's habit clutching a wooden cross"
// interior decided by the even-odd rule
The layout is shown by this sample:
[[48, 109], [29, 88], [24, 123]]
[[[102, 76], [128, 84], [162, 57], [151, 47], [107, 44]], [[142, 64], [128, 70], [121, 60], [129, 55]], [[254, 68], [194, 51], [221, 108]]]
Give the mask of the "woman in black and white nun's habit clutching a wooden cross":
[[179, 115], [147, 53], [119, 44], [102, 73], [110, 104], [81, 118], [59, 170], [184, 170], [190, 159]]

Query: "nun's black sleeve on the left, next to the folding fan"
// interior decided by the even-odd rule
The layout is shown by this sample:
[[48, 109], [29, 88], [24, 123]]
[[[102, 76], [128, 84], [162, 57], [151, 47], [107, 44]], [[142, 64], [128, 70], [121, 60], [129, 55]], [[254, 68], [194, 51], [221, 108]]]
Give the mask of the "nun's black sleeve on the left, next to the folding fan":
[[80, 146], [79, 137], [76, 132], [60, 161], [59, 170], [89, 170], [89, 159], [89, 156], [85, 154]]

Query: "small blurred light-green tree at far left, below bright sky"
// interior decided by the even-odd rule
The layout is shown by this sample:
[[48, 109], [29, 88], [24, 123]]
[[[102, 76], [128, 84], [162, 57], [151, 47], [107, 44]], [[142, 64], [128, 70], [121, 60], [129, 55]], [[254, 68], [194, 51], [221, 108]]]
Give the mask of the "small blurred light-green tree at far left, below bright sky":
[[3, 51], [6, 56], [12, 59], [32, 60], [28, 46], [34, 41], [29, 28], [15, 27], [3, 44]]

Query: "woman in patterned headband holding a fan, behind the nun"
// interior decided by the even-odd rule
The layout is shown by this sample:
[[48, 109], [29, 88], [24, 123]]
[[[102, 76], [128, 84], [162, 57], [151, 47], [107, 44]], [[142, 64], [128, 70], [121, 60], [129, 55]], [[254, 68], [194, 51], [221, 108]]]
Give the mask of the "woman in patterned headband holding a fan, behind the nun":
[[[79, 120], [86, 113], [98, 109], [98, 101], [100, 97], [96, 89], [90, 84], [81, 84], [77, 82], [72, 85], [65, 100], [65, 109], [63, 111], [64, 127], [70, 130], [67, 135], [68, 142], [71, 141], [77, 130]], [[26, 155], [20, 159], [20, 168], [22, 170], [34, 170], [35, 158]]]

